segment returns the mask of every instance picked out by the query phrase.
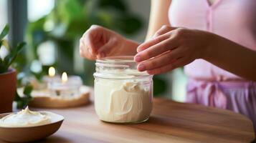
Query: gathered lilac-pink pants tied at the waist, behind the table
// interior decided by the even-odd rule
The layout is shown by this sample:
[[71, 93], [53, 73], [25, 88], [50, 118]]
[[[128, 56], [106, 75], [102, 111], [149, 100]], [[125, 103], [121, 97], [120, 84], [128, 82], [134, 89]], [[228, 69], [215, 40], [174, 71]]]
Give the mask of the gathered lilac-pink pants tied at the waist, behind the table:
[[186, 102], [244, 114], [256, 131], [256, 82], [208, 82], [190, 79]]

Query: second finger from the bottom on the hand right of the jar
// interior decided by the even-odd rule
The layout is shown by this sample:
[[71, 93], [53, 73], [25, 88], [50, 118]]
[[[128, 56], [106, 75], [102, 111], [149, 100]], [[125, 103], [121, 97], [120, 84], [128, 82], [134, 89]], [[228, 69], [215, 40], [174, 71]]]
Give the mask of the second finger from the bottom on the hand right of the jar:
[[148, 59], [138, 64], [138, 71], [146, 71], [151, 69], [157, 69], [161, 66], [169, 64], [176, 59], [181, 58], [181, 49], [176, 48], [172, 51], [167, 51], [165, 54], [161, 54], [160, 56], [156, 56], [155, 58]]

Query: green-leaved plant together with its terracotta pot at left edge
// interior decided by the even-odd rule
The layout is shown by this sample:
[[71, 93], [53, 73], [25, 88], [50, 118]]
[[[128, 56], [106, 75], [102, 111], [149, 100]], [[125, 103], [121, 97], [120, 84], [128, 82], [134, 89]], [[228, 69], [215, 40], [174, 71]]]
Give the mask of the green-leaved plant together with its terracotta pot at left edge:
[[4, 46], [8, 54], [0, 57], [0, 113], [11, 112], [12, 102], [16, 95], [16, 70], [11, 68], [11, 63], [24, 47], [25, 43], [19, 43], [15, 47], [9, 47], [4, 37], [9, 33], [6, 25], [0, 34], [0, 49]]

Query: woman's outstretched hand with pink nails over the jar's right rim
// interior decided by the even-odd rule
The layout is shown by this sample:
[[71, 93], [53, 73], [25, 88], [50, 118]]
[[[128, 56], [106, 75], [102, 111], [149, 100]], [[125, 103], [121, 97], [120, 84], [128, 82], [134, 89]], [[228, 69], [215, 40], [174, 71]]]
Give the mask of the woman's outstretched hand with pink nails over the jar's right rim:
[[138, 46], [134, 57], [139, 71], [161, 74], [207, 55], [211, 33], [162, 26], [153, 38]]

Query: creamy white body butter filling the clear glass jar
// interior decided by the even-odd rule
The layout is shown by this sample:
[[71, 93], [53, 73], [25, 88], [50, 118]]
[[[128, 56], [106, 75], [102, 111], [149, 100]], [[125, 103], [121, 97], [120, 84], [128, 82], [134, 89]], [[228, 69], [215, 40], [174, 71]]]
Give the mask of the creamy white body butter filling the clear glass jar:
[[142, 122], [148, 119], [152, 102], [148, 86], [135, 81], [98, 79], [95, 110], [107, 122]]

